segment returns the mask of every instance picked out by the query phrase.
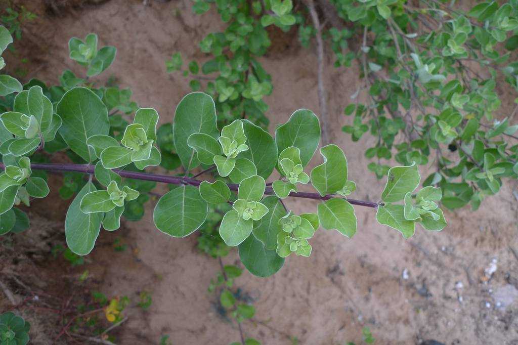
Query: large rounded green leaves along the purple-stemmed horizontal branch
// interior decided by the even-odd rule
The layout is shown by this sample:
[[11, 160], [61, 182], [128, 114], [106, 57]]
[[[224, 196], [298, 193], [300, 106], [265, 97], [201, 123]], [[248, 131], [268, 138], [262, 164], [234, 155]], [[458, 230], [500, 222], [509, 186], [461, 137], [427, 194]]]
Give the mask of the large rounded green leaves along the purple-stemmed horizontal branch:
[[[287, 3], [279, 6], [287, 6], [282, 4]], [[100, 54], [104, 48], [97, 52], [96, 42], [96, 36], [91, 34], [84, 41], [73, 38], [69, 44], [70, 56], [87, 67], [90, 74], [111, 63], [110, 59], [97, 59], [106, 54]], [[63, 191], [67, 195], [77, 193], [65, 219], [67, 245], [77, 255], [90, 253], [101, 227], [114, 231], [120, 227], [121, 217], [140, 219], [155, 181], [170, 183], [169, 192], [160, 197], [153, 211], [153, 221], [159, 231], [172, 237], [188, 236], [202, 228], [209, 210], [220, 208], [224, 215], [219, 236], [225, 245], [238, 247], [244, 267], [256, 276], [274, 274], [292, 252], [309, 256], [312, 247], [308, 239], [319, 226], [336, 229], [349, 238], [356, 233], [354, 207], [347, 199], [356, 186], [348, 179], [343, 151], [336, 145], [322, 147], [324, 162], [310, 174], [304, 172], [320, 144], [321, 135], [319, 119], [310, 110], [295, 111], [286, 123], [277, 127], [273, 137], [247, 119], [234, 120], [220, 130], [213, 97], [193, 92], [178, 104], [174, 122], [163, 124], [157, 131], [159, 115], [151, 108], [141, 108], [134, 116], [126, 116], [132, 121], [125, 120], [119, 113], [112, 112], [109, 116], [114, 108], [126, 114], [137, 109], [130, 101], [130, 93], [124, 90], [94, 89], [93, 85], [85, 84], [85, 80], [51, 88], [33, 80], [24, 89], [10, 101], [4, 98], [6, 111], [0, 114], [0, 133], [5, 133], [0, 142], [5, 167], [0, 175], [3, 188], [0, 214], [12, 218], [13, 212], [17, 212], [11, 209], [13, 204], [24, 202], [28, 206], [28, 196], [43, 197], [49, 193], [45, 179], [32, 176], [32, 170], [37, 170], [32, 168], [37, 165], [31, 165], [28, 156], [36, 162], [48, 162], [49, 155], [39, 151], [52, 154], [64, 150], [75, 163], [71, 165], [76, 168], [73, 171], [91, 174], [86, 182], [71, 177]], [[19, 142], [24, 145], [18, 145]], [[142, 172], [149, 166], [161, 164], [162, 153], [168, 157], [164, 167], [183, 166], [183, 177]], [[45, 165], [45, 169], [49, 167], [60, 170], [65, 165]], [[214, 167], [212, 181], [189, 177], [195, 169]], [[484, 176], [495, 178], [499, 174], [495, 168], [488, 169]], [[279, 178], [267, 184], [275, 169]], [[390, 213], [392, 205], [389, 203], [408, 199], [406, 194], [416, 188], [420, 179], [416, 166], [412, 171], [417, 182], [411, 189], [408, 183], [400, 182], [398, 172], [392, 174], [394, 178], [389, 176], [391, 181], [396, 181], [393, 189], [399, 194], [395, 197], [394, 191], [387, 192], [392, 189], [387, 183], [382, 196], [386, 204], [378, 207], [378, 214]], [[316, 213], [297, 215], [287, 210], [282, 199], [297, 196], [298, 185], [310, 182], [318, 192], [309, 194], [319, 200]], [[425, 228], [429, 228], [425, 224], [430, 222], [430, 217], [439, 222], [435, 216], [442, 215], [437, 208], [439, 199], [435, 194], [418, 193], [416, 204], [412, 205], [410, 196], [405, 200], [409, 204], [408, 214], [412, 217], [419, 214], [419, 217], [406, 221], [422, 222]], [[223, 209], [221, 205], [232, 207]], [[378, 205], [371, 203], [370, 206]], [[407, 223], [399, 219], [394, 223], [385, 218], [380, 221], [382, 224], [409, 236]], [[220, 249], [221, 252], [211, 254], [219, 255], [226, 248]], [[110, 310], [115, 318], [116, 311], [120, 311], [115, 306]]]

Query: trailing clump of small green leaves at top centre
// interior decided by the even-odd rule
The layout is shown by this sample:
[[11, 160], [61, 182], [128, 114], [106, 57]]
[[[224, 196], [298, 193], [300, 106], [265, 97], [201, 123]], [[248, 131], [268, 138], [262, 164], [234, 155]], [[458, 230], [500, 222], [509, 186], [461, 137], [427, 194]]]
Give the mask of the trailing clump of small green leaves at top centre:
[[[194, 2], [193, 11], [205, 13], [212, 4], [227, 24], [225, 31], [210, 33], [199, 42], [200, 50], [211, 59], [201, 68], [197, 61], [191, 61], [183, 75], [190, 75], [193, 91], [203, 89], [213, 97], [219, 123], [247, 117], [266, 127], [268, 106], [263, 98], [272, 91], [271, 77], [257, 57], [271, 45], [267, 26], [275, 25], [286, 32], [295, 24], [292, 0], [200, 0]], [[179, 52], [166, 61], [169, 73], [182, 70], [182, 66]]]

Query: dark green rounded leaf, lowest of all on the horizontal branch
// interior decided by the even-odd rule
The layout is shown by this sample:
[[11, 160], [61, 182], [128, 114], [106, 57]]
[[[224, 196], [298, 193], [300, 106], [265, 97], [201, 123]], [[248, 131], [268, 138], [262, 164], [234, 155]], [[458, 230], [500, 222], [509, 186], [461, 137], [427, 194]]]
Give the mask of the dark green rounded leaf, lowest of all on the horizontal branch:
[[277, 255], [275, 250], [267, 250], [253, 235], [243, 241], [238, 249], [241, 262], [254, 276], [269, 277], [284, 265], [284, 258]]

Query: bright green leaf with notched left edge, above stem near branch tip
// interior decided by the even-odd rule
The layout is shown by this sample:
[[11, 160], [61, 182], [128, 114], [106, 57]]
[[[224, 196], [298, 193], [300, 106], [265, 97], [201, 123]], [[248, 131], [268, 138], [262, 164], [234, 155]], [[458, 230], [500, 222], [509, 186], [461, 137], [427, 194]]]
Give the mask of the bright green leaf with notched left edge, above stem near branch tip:
[[320, 149], [324, 163], [311, 170], [311, 184], [324, 196], [341, 190], [347, 182], [347, 160], [342, 149], [326, 145]]

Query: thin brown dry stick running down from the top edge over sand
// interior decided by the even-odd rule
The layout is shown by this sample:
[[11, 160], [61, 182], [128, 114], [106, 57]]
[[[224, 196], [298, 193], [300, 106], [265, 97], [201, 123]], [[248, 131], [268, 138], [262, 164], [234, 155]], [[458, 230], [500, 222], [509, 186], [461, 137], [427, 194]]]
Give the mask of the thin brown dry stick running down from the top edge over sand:
[[316, 13], [315, 5], [313, 0], [307, 0], [306, 6], [308, 6], [309, 15], [311, 21], [316, 30], [316, 56], [318, 59], [317, 66], [317, 93], [319, 95], [320, 105], [320, 118], [322, 126], [322, 145], [326, 146], [329, 144], [329, 130], [328, 130], [328, 116], [327, 116], [327, 105], [326, 105], [326, 94], [324, 89], [324, 41], [322, 40], [322, 26], [320, 25], [319, 15]]

